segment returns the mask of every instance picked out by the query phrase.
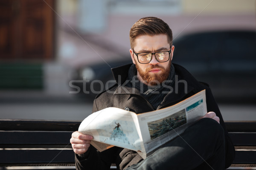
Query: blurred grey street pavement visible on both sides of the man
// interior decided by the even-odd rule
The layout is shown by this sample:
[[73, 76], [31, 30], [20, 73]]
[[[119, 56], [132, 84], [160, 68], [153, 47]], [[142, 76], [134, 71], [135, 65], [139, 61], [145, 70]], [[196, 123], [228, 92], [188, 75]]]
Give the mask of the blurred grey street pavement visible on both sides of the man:
[[[93, 99], [49, 96], [41, 92], [1, 93], [0, 119], [81, 121], [92, 113]], [[224, 121], [256, 121], [256, 105], [219, 104]]]

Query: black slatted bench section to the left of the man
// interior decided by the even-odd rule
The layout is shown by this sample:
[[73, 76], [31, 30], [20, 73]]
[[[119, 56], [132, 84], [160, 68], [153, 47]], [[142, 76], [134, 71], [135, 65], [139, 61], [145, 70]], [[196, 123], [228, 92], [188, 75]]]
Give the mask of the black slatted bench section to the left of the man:
[[79, 124], [80, 122], [0, 120], [0, 167], [60, 166], [66, 169], [67, 166], [75, 166], [70, 137]]

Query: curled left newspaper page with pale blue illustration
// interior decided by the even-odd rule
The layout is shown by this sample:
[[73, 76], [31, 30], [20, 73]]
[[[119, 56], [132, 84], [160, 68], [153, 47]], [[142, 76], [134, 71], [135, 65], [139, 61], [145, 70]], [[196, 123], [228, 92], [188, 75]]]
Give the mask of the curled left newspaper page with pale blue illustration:
[[134, 112], [120, 108], [105, 108], [89, 115], [81, 122], [79, 132], [93, 136], [91, 144], [99, 151], [118, 146], [142, 150], [140, 126]]

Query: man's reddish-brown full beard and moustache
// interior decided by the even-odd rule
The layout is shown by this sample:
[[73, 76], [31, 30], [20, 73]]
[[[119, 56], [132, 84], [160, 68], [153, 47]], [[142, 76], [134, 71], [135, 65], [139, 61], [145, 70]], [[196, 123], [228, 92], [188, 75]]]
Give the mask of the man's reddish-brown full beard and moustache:
[[[135, 61], [136, 62], [136, 61]], [[160, 85], [164, 80], [168, 79], [168, 76], [170, 74], [171, 69], [171, 61], [169, 62], [168, 67], [165, 69], [162, 66], [159, 65], [151, 65], [148, 68], [146, 68], [146, 71], [143, 71], [136, 62], [136, 68], [137, 71], [139, 71], [139, 74], [141, 78], [148, 84], [148, 85]], [[153, 68], [158, 68], [162, 71], [162, 73], [157, 74], [149, 74], [149, 71]]]

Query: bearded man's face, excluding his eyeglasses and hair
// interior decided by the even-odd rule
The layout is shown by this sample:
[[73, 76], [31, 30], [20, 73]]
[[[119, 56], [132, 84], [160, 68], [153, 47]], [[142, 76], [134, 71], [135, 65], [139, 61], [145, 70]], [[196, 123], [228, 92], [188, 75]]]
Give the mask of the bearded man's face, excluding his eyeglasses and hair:
[[[135, 39], [134, 52], [157, 52], [157, 51], [169, 51], [171, 49], [167, 35], [159, 34], [154, 36], [140, 35]], [[137, 56], [134, 54], [132, 49], [130, 49], [131, 59], [137, 68], [138, 79], [148, 85], [157, 85], [162, 83], [169, 76], [170, 65], [173, 56], [174, 46], [172, 46], [172, 53], [169, 61], [158, 62], [155, 56], [147, 64], [141, 64], [138, 62]]]

